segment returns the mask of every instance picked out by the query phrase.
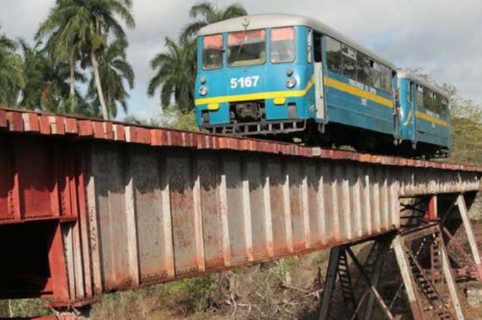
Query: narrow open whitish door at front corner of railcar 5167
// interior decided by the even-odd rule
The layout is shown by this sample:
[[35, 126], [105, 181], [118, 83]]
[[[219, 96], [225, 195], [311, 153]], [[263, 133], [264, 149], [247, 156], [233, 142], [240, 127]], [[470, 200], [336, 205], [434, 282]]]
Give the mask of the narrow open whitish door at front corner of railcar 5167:
[[324, 72], [323, 72], [323, 51], [322, 34], [313, 34], [313, 59], [315, 61], [315, 104], [317, 120], [324, 120], [326, 116], [325, 97], [324, 97]]

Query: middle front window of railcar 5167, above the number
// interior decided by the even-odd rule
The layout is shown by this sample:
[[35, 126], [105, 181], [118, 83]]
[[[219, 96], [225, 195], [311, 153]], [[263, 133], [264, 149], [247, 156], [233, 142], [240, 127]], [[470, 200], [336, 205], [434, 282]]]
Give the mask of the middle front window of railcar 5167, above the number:
[[228, 34], [228, 65], [244, 67], [266, 62], [266, 31], [253, 30]]

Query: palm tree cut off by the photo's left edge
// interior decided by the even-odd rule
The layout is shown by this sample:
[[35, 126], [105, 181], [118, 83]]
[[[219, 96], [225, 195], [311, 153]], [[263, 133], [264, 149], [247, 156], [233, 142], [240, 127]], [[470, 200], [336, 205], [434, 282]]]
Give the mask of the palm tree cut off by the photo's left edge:
[[17, 54], [17, 43], [5, 34], [0, 34], [0, 104], [15, 105], [24, 85], [25, 78], [21, 56]]

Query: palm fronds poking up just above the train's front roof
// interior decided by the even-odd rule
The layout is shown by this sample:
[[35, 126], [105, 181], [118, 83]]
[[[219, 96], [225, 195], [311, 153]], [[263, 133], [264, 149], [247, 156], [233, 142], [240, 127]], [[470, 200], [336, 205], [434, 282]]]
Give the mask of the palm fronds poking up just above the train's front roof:
[[231, 6], [223, 9], [218, 8], [218, 6], [214, 5], [210, 1], [202, 1], [197, 3], [191, 8], [191, 10], [189, 10], [189, 17], [192, 19], [197, 19], [200, 17], [200, 19], [195, 20], [185, 26], [180, 37], [181, 41], [192, 41], [196, 38], [196, 34], [198, 34], [200, 28], [204, 27], [205, 25], [235, 17], [242, 17], [247, 14], [248, 12], [240, 3], [233, 3]]

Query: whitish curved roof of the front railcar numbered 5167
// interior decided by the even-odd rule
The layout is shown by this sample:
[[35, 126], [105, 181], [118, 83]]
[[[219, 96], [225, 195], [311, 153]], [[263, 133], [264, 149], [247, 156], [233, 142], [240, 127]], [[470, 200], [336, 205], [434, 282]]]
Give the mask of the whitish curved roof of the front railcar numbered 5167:
[[331, 36], [342, 43], [345, 43], [346, 45], [350, 45], [350, 47], [353, 47], [360, 52], [368, 54], [368, 56], [372, 56], [380, 63], [391, 67], [393, 70], [397, 70], [397, 67], [395, 67], [395, 65], [386, 58], [383, 58], [378, 54], [375, 54], [375, 52], [366, 49], [366, 47], [355, 43], [355, 41], [348, 39], [346, 36], [337, 32], [321, 21], [296, 14], [252, 14], [249, 16], [228, 19], [217, 23], [212, 23], [204, 28], [201, 28], [199, 35], [206, 36], [209, 34], [219, 34], [224, 32], [288, 27], [291, 25], [304, 25], [317, 32], [327, 34], [328, 36]]

